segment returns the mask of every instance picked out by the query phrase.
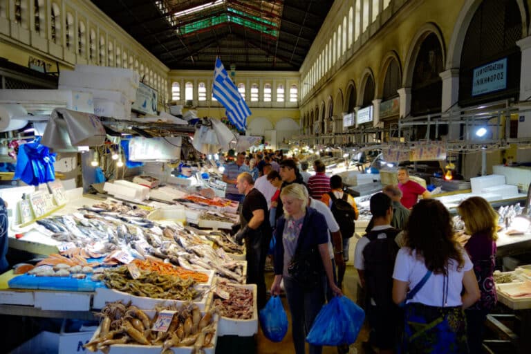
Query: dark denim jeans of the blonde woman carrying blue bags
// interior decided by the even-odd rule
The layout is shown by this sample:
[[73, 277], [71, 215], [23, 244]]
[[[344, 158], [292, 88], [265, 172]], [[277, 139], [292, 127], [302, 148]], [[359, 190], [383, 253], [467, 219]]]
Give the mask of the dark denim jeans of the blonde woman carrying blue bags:
[[[324, 279], [319, 281], [313, 290], [305, 291], [297, 283], [284, 277], [284, 289], [288, 298], [288, 306], [291, 313], [291, 334], [295, 354], [304, 354], [304, 342], [306, 335], [312, 328], [313, 320], [324, 305]], [[310, 346], [310, 354], [321, 354], [322, 346]]]

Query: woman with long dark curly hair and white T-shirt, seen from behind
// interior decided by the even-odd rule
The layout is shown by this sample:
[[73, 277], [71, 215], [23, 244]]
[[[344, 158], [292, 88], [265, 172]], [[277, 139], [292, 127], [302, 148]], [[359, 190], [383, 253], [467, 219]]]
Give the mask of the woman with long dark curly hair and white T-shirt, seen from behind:
[[448, 210], [423, 199], [413, 206], [405, 231], [393, 272], [393, 301], [406, 301], [402, 352], [468, 353], [463, 310], [480, 292]]

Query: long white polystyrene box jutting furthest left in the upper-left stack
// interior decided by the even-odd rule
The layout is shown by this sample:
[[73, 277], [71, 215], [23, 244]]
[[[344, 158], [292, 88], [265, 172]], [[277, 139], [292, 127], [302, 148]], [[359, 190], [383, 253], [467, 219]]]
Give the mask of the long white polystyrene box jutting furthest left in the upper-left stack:
[[78, 71], [62, 71], [59, 75], [59, 85], [81, 86], [97, 88], [98, 90], [120, 91], [125, 97], [134, 101], [136, 99], [136, 87], [131, 84], [127, 77], [115, 77], [97, 73], [82, 73]]

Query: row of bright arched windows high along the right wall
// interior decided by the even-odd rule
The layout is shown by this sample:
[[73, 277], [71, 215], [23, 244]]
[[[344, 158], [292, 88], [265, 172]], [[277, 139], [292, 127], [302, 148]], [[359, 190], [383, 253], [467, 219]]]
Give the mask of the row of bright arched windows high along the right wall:
[[321, 53], [317, 56], [313, 64], [306, 73], [302, 82], [303, 88], [301, 95], [305, 97], [310, 89], [319, 82], [330, 68], [344, 55], [348, 48], [360, 38], [361, 33], [365, 32], [369, 24], [374, 22], [380, 12], [389, 6], [391, 0], [383, 0], [382, 8], [380, 8], [380, 0], [355, 0], [353, 6], [348, 8], [348, 15], [339, 21], [337, 28], [330, 38], [328, 43], [326, 39], [321, 48]]

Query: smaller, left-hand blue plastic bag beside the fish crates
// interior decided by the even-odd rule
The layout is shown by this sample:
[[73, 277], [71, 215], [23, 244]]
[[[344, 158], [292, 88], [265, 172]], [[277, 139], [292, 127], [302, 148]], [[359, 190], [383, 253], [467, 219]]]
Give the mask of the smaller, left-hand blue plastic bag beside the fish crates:
[[288, 316], [280, 297], [272, 296], [259, 313], [263, 335], [271, 342], [281, 342], [288, 332]]

